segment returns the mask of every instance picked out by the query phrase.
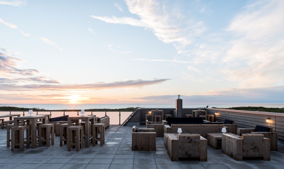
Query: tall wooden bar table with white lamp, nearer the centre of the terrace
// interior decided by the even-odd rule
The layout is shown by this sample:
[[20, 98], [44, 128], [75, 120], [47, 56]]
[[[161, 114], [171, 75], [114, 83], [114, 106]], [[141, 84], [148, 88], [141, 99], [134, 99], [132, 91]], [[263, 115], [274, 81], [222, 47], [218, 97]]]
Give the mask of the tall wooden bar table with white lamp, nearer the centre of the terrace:
[[[95, 124], [96, 115], [88, 115], [88, 116], [69, 116], [68, 118], [68, 127], [72, 126], [72, 121], [75, 120], [75, 125], [80, 125], [79, 122], [85, 121], [85, 148], [90, 147], [90, 125], [88, 125], [91, 120], [91, 126]], [[92, 133], [92, 132], [91, 132]]]

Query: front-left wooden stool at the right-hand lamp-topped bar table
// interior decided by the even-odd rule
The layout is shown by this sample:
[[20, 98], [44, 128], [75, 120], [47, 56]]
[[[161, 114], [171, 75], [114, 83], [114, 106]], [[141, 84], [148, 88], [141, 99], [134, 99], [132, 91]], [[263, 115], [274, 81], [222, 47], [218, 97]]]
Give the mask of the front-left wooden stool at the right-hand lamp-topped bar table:
[[67, 127], [68, 151], [71, 151], [71, 147], [73, 146], [76, 147], [76, 151], [79, 151], [80, 148], [83, 149], [83, 129], [82, 128], [83, 127], [81, 125], [73, 125], [73, 126]]

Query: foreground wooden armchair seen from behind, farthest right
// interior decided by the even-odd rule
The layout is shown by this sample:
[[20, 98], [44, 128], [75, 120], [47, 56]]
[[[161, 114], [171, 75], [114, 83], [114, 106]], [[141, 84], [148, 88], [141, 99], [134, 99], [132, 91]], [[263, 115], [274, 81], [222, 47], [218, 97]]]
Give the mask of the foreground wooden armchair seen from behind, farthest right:
[[269, 161], [270, 139], [263, 134], [242, 134], [241, 138], [222, 134], [222, 153], [237, 161], [242, 161], [243, 157], [263, 157]]

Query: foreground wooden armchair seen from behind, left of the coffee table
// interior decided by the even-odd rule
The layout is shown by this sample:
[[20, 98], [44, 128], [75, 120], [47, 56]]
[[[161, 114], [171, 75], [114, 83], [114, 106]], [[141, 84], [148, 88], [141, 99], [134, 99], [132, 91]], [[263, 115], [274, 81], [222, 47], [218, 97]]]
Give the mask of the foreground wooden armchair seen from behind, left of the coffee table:
[[199, 157], [200, 161], [207, 161], [207, 139], [199, 134], [182, 134], [178, 138], [168, 134], [167, 151], [172, 161], [180, 157]]

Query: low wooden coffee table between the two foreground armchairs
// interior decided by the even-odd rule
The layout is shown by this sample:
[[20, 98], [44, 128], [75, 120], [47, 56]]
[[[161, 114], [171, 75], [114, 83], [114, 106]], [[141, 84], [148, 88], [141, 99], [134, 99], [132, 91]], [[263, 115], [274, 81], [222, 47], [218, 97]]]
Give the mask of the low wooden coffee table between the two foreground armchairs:
[[[221, 149], [222, 147], [222, 134], [223, 133], [207, 133], [206, 137], [207, 137], [207, 144], [214, 148], [215, 150], [217, 150], [218, 148]], [[236, 136], [236, 137], [241, 137], [238, 136], [236, 134], [233, 133], [226, 133], [226, 134], [230, 134], [232, 136]]]

